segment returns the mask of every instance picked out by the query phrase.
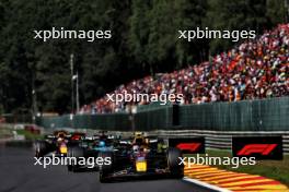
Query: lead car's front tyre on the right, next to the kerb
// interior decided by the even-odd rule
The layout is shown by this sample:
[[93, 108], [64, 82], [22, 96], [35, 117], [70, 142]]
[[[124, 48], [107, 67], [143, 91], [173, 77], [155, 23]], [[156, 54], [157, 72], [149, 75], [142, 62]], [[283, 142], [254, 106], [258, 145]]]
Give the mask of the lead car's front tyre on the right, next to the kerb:
[[184, 165], [181, 164], [180, 157], [183, 157], [182, 152], [178, 148], [167, 149], [167, 166], [172, 178], [181, 179], [184, 177]]

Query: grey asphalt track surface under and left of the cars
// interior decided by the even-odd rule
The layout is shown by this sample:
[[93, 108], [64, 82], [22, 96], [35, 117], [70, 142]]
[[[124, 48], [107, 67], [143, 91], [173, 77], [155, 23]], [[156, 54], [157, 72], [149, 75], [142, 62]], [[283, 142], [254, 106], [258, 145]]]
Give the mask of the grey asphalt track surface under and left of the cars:
[[99, 173], [68, 172], [65, 166], [34, 166], [28, 148], [0, 146], [0, 192], [210, 192], [174, 180], [137, 180], [100, 183]]

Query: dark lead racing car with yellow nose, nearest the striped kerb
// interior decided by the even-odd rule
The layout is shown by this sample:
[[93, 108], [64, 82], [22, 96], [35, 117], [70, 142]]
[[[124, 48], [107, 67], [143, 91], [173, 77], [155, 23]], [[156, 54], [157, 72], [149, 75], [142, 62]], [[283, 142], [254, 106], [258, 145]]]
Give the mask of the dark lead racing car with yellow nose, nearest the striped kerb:
[[181, 165], [182, 152], [167, 147], [158, 137], [136, 136], [132, 141], [120, 141], [117, 148], [101, 152], [103, 158], [111, 158], [109, 165], [100, 166], [100, 181], [111, 182], [117, 179], [166, 176], [183, 178]]

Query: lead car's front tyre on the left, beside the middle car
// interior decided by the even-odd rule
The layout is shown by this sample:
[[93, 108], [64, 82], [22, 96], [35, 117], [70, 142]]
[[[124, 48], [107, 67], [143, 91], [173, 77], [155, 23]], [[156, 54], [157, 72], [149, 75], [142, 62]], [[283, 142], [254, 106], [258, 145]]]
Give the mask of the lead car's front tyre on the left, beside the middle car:
[[[104, 164], [100, 166], [100, 182], [109, 182], [109, 178], [107, 177], [109, 173], [113, 172], [113, 152], [100, 152], [99, 157], [104, 159]], [[105, 159], [109, 158], [111, 164], [105, 164]]]

